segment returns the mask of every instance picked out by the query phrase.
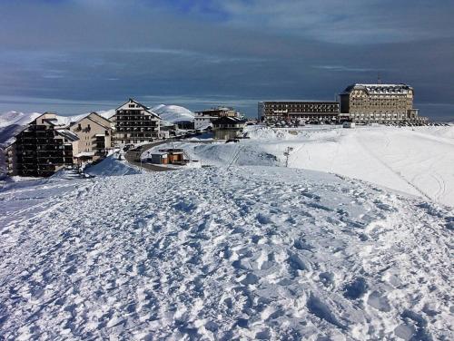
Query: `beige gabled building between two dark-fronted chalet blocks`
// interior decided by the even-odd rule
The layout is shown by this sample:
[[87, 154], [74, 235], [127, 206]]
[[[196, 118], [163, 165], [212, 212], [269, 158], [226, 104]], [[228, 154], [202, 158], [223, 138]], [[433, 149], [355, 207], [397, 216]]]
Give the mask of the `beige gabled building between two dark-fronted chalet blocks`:
[[96, 112], [90, 113], [77, 122], [72, 122], [69, 130], [79, 138], [78, 153], [74, 154], [78, 163], [104, 159], [113, 147], [112, 122]]

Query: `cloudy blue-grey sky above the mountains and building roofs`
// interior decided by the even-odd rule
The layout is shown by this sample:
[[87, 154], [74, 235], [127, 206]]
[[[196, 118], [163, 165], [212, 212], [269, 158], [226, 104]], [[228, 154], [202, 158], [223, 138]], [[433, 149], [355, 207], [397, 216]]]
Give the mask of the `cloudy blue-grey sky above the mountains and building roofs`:
[[0, 0], [0, 112], [75, 114], [133, 97], [257, 115], [408, 83], [454, 119], [452, 0]]

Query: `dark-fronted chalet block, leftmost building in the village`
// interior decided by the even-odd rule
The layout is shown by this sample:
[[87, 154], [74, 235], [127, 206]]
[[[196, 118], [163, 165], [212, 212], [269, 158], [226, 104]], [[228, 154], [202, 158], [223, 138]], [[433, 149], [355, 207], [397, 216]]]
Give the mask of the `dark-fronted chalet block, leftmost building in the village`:
[[[15, 136], [9, 169], [21, 176], [47, 177], [74, 164], [79, 138], [45, 112]], [[14, 174], [12, 174], [14, 175]]]

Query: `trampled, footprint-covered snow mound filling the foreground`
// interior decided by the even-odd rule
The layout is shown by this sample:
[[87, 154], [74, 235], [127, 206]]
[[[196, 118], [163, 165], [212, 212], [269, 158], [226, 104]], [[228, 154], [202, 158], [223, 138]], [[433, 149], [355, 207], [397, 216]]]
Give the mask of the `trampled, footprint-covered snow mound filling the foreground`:
[[454, 338], [454, 212], [426, 200], [277, 167], [0, 200], [0, 338]]

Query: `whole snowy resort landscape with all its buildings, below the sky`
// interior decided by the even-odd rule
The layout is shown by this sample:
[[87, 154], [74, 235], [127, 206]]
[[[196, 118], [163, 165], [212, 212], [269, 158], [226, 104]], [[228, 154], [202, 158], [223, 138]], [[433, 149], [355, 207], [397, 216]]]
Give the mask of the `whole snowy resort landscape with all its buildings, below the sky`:
[[0, 338], [454, 339], [454, 125], [413, 95], [1, 114]]

